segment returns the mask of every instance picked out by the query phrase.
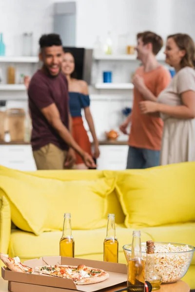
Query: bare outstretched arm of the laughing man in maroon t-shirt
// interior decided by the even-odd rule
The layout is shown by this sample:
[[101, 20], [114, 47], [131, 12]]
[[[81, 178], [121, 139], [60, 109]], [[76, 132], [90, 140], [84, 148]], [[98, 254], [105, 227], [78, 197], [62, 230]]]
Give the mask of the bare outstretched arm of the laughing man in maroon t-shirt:
[[83, 158], [84, 151], [78, 146], [69, 130], [62, 123], [56, 105], [53, 103], [50, 106], [41, 109], [41, 112], [50, 125], [59, 133], [59, 136]]

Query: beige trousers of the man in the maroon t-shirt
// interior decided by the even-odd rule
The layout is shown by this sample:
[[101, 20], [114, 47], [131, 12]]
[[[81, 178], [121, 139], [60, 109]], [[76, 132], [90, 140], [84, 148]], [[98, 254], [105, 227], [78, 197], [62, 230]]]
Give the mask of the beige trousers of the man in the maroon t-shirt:
[[51, 143], [41, 147], [39, 150], [33, 151], [38, 170], [67, 169], [64, 167], [66, 155], [67, 151], [61, 150]]

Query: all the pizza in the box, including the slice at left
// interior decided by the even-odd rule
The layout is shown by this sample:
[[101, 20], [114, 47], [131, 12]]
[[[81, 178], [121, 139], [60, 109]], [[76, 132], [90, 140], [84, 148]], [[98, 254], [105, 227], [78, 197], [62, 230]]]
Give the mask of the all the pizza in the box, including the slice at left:
[[47, 274], [66, 279], [72, 279], [76, 285], [95, 284], [105, 281], [109, 274], [103, 270], [87, 267], [85, 265], [68, 266], [40, 266], [30, 268], [20, 262], [20, 258], [9, 257], [0, 253], [2, 262], [13, 272], [28, 273], [28, 274]]

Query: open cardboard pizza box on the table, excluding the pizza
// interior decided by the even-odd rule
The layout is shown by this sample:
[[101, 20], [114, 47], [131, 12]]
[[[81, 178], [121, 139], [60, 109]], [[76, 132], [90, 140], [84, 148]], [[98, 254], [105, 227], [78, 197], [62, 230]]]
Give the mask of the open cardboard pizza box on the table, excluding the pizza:
[[12, 272], [2, 267], [2, 278], [9, 281], [9, 290], [12, 292], [73, 292], [72, 290], [95, 292], [127, 281], [127, 266], [124, 264], [61, 256], [41, 257], [39, 259], [25, 261], [23, 264], [31, 268], [45, 266], [47, 264], [52, 266], [59, 264], [78, 266], [84, 264], [85, 266], [108, 272], [109, 278], [96, 284], [76, 285], [72, 279], [64, 279], [45, 274]]

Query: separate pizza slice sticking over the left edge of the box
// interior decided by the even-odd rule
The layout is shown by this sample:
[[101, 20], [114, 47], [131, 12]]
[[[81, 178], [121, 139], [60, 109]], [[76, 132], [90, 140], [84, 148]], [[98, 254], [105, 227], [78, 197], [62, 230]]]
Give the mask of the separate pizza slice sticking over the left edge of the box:
[[32, 268], [22, 265], [22, 263], [20, 262], [20, 258], [18, 256], [9, 257], [8, 255], [0, 253], [0, 259], [5, 264], [5, 266], [13, 272], [29, 274], [32, 274], [34, 272]]

